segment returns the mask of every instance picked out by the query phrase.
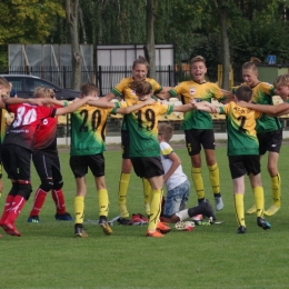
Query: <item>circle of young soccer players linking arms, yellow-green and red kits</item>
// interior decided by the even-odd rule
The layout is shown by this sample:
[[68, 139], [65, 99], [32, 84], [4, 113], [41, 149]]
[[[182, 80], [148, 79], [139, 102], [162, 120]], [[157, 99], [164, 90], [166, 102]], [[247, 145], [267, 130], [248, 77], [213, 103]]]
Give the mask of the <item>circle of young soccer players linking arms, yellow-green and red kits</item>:
[[[190, 64], [192, 80], [183, 81], [175, 88], [162, 88], [156, 80], [147, 78], [148, 62], [143, 57], [139, 57], [133, 62], [132, 77], [122, 79], [110, 93], [101, 99], [97, 99], [98, 89], [92, 83], [82, 84], [80, 99], [69, 106], [66, 101], [57, 101], [53, 91], [47, 88], [37, 88], [34, 91], [36, 98], [29, 100], [29, 103], [24, 103], [27, 100], [22, 99], [1, 98], [0, 107], [16, 114], [14, 121], [8, 128], [1, 147], [3, 167], [11, 180], [11, 189], [7, 196], [0, 219], [0, 226], [4, 231], [11, 236], [21, 236], [16, 228], [16, 219], [31, 193], [31, 153], [41, 185], [37, 190], [28, 221], [39, 221], [39, 212], [50, 190], [57, 208], [56, 219], [72, 219], [64, 207], [63, 180], [60, 172], [56, 142], [57, 121], [53, 118], [54, 116], [69, 112], [71, 112], [70, 167], [77, 185], [74, 199], [76, 236], [87, 237], [82, 223], [84, 197], [87, 193], [84, 177], [88, 173], [88, 168], [96, 179], [99, 226], [106, 235], [112, 232], [107, 221], [109, 201], [104, 182], [104, 158], [102, 155], [106, 149], [104, 131], [109, 113], [124, 114], [121, 128], [122, 167], [118, 192], [121, 223], [129, 221], [127, 191], [133, 167], [137, 176], [142, 178], [143, 181], [144, 206], [149, 216], [146, 236], [159, 238], [170, 230], [168, 226], [160, 222], [163, 168], [157, 136], [159, 117], [165, 113], [169, 114], [172, 111], [186, 112], [182, 129], [185, 130], [188, 153], [191, 158], [191, 177], [197, 191], [198, 202], [207, 201], [201, 176], [200, 152], [202, 147], [209, 169], [216, 210], [221, 210], [223, 201], [220, 193], [219, 168], [215, 156], [212, 120], [209, 114], [216, 108], [207, 106], [203, 101], [211, 102], [211, 99], [215, 98], [228, 102], [236, 94], [239, 96], [238, 100], [250, 101], [252, 99], [255, 103], [272, 106], [275, 88], [258, 80], [258, 69], [253, 61], [246, 62], [242, 68], [245, 86], [241, 87], [249, 88], [249, 91], [243, 91], [242, 88], [238, 91], [239, 88], [233, 88], [231, 92], [221, 90], [217, 84], [206, 81], [207, 67], [202, 57], [193, 58]], [[279, 83], [277, 88], [282, 86], [283, 83]], [[0, 79], [0, 90], [2, 94], [9, 92], [9, 88], [3, 79]], [[280, 96], [286, 94], [282, 91], [279, 92]], [[183, 106], [173, 107], [155, 102], [151, 99], [153, 94], [160, 99], [181, 96]], [[243, 94], [249, 96], [249, 98], [243, 99]], [[116, 97], [122, 97], [124, 101], [110, 102]], [[282, 108], [278, 112], [283, 112], [285, 110], [286, 108]], [[239, 111], [240, 114], [238, 114], [239, 112], [236, 114], [236, 111]], [[248, 112], [248, 110], [246, 111]], [[250, 148], [251, 151], [245, 155], [255, 156], [255, 162], [248, 163], [247, 160], [240, 158], [243, 156], [242, 148], [238, 148], [242, 152], [229, 155], [231, 176], [233, 180], [242, 178], [246, 173], [251, 176], [257, 206], [250, 208], [248, 213], [257, 212], [259, 218], [257, 219], [258, 226], [269, 229], [270, 225], [263, 219], [263, 213], [271, 216], [280, 208], [281, 193], [278, 172], [278, 157], [282, 141], [280, 122], [276, 117], [261, 113], [256, 113], [256, 116], [248, 113], [248, 117], [241, 109], [237, 109], [236, 106], [230, 107], [227, 104], [222, 111], [218, 110], [218, 112], [231, 117], [231, 122], [235, 123], [231, 127], [238, 128], [239, 133], [242, 133], [240, 134], [241, 146], [245, 146], [245, 150], [247, 148], [246, 141], [248, 141], [249, 147], [250, 143], [253, 146], [253, 148]], [[255, 119], [257, 119], [257, 134], [255, 133]], [[228, 131], [228, 133], [230, 139], [230, 132]], [[232, 134], [233, 132], [231, 132]], [[233, 151], [233, 141], [231, 146]], [[261, 206], [263, 203], [263, 192], [260, 189], [261, 183], [258, 180], [256, 182], [253, 180], [260, 173], [260, 156], [265, 155], [266, 151], [269, 152], [268, 171], [271, 177], [273, 203], [263, 212], [263, 205]], [[246, 231], [242, 201], [245, 190], [240, 188], [242, 186], [240, 183], [238, 181], [235, 183], [235, 207], [239, 225], [237, 232], [243, 233]]]

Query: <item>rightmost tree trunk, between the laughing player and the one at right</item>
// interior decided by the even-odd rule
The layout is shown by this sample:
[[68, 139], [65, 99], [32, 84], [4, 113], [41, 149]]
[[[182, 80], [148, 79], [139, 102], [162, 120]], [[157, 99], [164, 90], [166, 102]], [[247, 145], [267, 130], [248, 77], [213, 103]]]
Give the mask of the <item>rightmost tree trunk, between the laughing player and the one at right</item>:
[[227, 31], [227, 11], [220, 9], [220, 31], [222, 42], [222, 88], [229, 90], [230, 87], [230, 44]]

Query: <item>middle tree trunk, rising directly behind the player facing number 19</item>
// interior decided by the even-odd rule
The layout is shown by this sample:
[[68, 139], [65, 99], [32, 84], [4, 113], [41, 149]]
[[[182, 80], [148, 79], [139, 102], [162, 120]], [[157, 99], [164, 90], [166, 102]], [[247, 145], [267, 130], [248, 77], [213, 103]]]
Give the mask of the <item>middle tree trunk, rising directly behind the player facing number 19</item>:
[[147, 0], [147, 43], [144, 56], [150, 64], [149, 77], [156, 79], [155, 17], [158, 0]]

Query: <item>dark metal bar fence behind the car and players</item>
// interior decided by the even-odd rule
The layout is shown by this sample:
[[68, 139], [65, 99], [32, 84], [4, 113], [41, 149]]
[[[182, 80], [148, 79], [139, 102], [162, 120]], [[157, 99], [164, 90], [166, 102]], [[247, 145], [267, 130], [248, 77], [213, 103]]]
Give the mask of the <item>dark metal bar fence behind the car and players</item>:
[[[163, 87], [175, 87], [189, 78], [188, 66], [157, 67], [157, 81]], [[0, 68], [1, 74], [32, 74], [61, 88], [71, 87], [72, 68], [64, 67], [7, 67]], [[82, 67], [81, 82], [93, 82], [104, 96], [122, 79], [131, 77], [131, 67]]]

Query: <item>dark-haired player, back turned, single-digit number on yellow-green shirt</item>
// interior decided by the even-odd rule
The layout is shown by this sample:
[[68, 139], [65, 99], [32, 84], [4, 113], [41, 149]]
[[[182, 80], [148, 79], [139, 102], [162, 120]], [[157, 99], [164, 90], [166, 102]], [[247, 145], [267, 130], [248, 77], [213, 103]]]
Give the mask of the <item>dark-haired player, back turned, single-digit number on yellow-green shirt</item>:
[[249, 176], [257, 213], [257, 225], [263, 230], [271, 225], [263, 218], [263, 188], [261, 181], [261, 166], [259, 158], [259, 142], [256, 136], [256, 119], [262, 117], [258, 111], [242, 108], [239, 102], [250, 102], [252, 90], [241, 86], [236, 90], [236, 102], [231, 101], [223, 107], [199, 102], [195, 106], [198, 110], [217, 112], [227, 116], [228, 158], [233, 183], [235, 211], [238, 221], [237, 233], [246, 232], [243, 196], [245, 175]]

